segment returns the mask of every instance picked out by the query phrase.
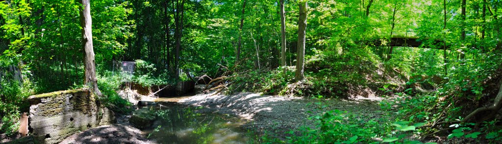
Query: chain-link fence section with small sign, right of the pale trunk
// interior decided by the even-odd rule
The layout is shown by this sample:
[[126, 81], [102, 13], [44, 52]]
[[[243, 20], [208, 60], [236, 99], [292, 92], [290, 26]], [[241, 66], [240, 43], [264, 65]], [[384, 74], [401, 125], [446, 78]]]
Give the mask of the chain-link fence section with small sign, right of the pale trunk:
[[132, 87], [135, 66], [135, 62], [113, 61], [113, 76], [119, 75], [126, 86]]

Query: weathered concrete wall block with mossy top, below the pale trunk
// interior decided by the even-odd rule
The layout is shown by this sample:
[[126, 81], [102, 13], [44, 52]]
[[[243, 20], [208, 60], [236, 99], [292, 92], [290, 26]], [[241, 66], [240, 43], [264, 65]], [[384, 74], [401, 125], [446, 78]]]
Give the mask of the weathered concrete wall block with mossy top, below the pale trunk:
[[66, 90], [33, 95], [30, 132], [41, 143], [58, 143], [88, 128], [114, 122], [113, 112], [88, 90]]

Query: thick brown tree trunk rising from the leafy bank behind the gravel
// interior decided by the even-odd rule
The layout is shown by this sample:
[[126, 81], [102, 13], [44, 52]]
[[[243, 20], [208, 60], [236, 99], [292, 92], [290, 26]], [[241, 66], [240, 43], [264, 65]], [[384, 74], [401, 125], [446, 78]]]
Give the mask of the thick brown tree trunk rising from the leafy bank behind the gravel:
[[304, 59], [305, 59], [305, 35], [307, 29], [307, 1], [298, 2], [300, 7], [300, 15], [298, 18], [298, 48], [296, 54], [296, 73], [295, 80], [301, 81], [304, 79]]

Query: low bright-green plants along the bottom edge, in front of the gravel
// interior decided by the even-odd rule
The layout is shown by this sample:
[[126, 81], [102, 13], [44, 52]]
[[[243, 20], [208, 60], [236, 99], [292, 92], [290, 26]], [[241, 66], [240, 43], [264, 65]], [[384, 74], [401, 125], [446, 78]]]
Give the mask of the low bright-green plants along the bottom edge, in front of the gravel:
[[[322, 100], [315, 104], [320, 108], [327, 106]], [[423, 143], [418, 135], [421, 133], [419, 127], [425, 123], [412, 122], [416, 121], [414, 117], [409, 118], [411, 121], [385, 115], [368, 117], [338, 109], [311, 115], [308, 119], [313, 121], [314, 127], [293, 129], [284, 140], [267, 134], [262, 139], [265, 143]]]

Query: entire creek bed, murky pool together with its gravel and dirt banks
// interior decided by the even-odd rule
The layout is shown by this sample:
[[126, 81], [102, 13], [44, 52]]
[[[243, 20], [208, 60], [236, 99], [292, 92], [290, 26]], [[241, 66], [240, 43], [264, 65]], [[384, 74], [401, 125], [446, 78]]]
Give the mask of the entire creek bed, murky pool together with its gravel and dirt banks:
[[265, 132], [285, 139], [285, 133], [314, 127], [307, 117], [325, 110], [339, 109], [365, 117], [385, 115], [378, 98], [323, 100], [238, 93], [233, 95], [197, 94], [150, 99], [148, 110], [156, 120], [138, 129], [131, 115], [117, 116], [117, 123], [82, 131], [62, 143], [260, 143]]

